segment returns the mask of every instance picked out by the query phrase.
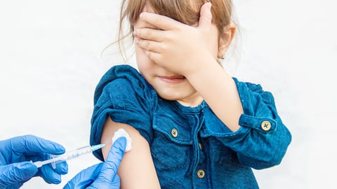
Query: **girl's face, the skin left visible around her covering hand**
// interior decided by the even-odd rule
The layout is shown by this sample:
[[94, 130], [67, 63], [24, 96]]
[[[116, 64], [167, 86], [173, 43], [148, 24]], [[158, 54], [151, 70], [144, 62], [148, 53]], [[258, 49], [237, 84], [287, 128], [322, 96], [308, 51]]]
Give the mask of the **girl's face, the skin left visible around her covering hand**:
[[[153, 10], [149, 10], [147, 6], [145, 6], [144, 10], [147, 12], [154, 13]], [[142, 20], [138, 20], [134, 29], [144, 28], [153, 26], [147, 24]], [[217, 58], [218, 55], [218, 29], [215, 25], [212, 25], [213, 36], [210, 37], [210, 40], [213, 41], [213, 52], [214, 57]], [[178, 75], [177, 73], [173, 73], [164, 69], [163, 67], [153, 62], [147, 55], [145, 55], [145, 51], [139, 48], [136, 45], [136, 62], [138, 65], [138, 70], [142, 74], [142, 76], [147, 80], [148, 83], [154, 87], [157, 94], [163, 99], [178, 101], [180, 104], [184, 106], [198, 106], [202, 102], [201, 95], [194, 90], [194, 87], [190, 84], [190, 82], [183, 76]]]

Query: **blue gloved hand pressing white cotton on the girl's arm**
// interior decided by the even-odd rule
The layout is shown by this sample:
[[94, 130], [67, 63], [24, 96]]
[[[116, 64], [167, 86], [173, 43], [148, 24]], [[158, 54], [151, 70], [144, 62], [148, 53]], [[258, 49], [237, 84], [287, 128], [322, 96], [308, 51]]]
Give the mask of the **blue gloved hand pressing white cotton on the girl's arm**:
[[79, 172], [79, 174], [74, 176], [63, 189], [119, 188], [121, 183], [119, 176], [117, 175], [117, 170], [121, 164], [125, 148], [126, 138], [121, 137], [117, 139], [110, 148], [105, 162], [93, 165]]

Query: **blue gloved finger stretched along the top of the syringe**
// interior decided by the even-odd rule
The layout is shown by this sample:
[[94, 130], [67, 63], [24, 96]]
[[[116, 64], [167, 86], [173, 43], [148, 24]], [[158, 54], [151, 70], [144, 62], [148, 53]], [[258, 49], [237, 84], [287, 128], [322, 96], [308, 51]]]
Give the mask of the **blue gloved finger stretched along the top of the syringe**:
[[11, 147], [16, 153], [25, 153], [27, 155], [36, 155], [36, 153], [60, 155], [65, 153], [65, 148], [62, 145], [34, 135], [14, 137], [11, 139]]

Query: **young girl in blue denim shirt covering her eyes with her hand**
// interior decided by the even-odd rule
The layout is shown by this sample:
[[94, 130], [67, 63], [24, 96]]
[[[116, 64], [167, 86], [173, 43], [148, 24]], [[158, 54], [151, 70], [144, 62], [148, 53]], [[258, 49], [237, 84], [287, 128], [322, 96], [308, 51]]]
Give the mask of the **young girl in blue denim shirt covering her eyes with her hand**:
[[235, 32], [232, 2], [128, 0], [121, 11], [139, 72], [105, 73], [91, 128], [91, 145], [110, 143], [120, 127], [131, 135], [121, 188], [258, 188], [251, 168], [278, 165], [291, 134], [270, 92], [219, 64]]

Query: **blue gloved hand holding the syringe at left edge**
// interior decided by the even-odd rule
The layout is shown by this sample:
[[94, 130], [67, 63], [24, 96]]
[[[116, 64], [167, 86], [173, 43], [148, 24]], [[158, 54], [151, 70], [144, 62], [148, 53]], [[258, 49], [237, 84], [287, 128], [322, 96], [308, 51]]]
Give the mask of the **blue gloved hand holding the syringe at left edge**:
[[60, 144], [33, 135], [0, 141], [0, 188], [20, 188], [33, 176], [41, 176], [47, 183], [60, 183], [60, 175], [68, 172], [66, 162], [57, 164], [56, 169], [51, 165], [37, 169], [32, 162], [62, 153], [65, 148]]

